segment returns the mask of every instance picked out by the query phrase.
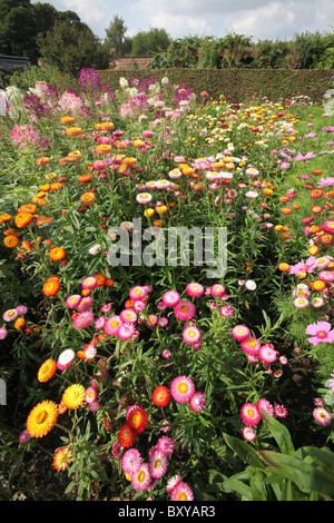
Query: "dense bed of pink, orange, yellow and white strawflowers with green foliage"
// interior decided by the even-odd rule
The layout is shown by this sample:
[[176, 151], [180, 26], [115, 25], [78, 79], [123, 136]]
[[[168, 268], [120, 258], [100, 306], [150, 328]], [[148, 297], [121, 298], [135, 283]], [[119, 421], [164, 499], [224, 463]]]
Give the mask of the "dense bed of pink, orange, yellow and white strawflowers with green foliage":
[[328, 115], [92, 69], [7, 96], [1, 461], [42, 444], [60, 499], [332, 499]]

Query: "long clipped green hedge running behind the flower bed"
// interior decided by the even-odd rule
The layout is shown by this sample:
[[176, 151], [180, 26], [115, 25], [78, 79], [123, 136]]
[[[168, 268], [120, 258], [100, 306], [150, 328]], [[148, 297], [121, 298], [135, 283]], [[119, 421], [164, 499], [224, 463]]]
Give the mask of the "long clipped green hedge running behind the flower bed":
[[[245, 99], [246, 95], [257, 93], [277, 101], [281, 97], [292, 98], [298, 95], [308, 96], [314, 103], [322, 103], [324, 92], [328, 89], [333, 69], [153, 69], [146, 70], [101, 70], [98, 71], [101, 82], [108, 83], [112, 90], [119, 89], [119, 79], [150, 77], [160, 80], [167, 77], [170, 82], [187, 82], [194, 91], [207, 91], [209, 97], [218, 99], [220, 95], [230, 96], [234, 102]], [[59, 75], [62, 90], [76, 87], [76, 80], [69, 75]]]

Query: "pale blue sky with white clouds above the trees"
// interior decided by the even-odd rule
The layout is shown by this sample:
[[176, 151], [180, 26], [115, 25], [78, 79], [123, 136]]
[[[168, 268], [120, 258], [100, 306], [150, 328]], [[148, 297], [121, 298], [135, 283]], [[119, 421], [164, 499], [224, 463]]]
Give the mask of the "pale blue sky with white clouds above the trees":
[[[33, 3], [36, 0], [32, 0]], [[259, 40], [292, 40], [302, 32], [333, 32], [333, 0], [39, 0], [58, 11], [75, 11], [101, 40], [117, 14], [127, 36], [151, 28], [170, 38], [245, 34]]]

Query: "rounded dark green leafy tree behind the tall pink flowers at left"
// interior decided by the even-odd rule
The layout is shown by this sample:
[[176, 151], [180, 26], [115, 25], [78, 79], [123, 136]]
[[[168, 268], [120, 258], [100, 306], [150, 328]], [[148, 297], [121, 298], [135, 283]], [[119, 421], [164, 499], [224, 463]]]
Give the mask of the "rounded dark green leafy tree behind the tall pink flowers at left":
[[37, 43], [42, 62], [63, 72], [77, 73], [84, 67], [109, 67], [107, 50], [78, 16], [57, 20], [46, 36], [38, 37]]

